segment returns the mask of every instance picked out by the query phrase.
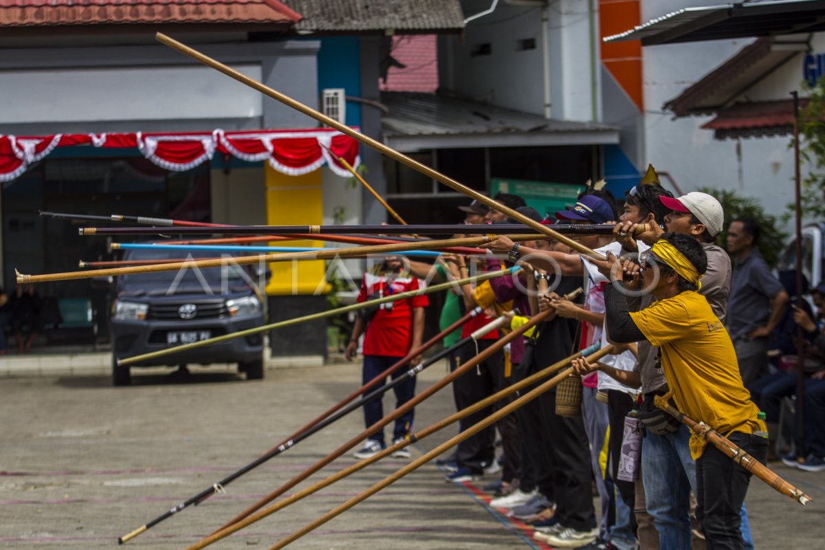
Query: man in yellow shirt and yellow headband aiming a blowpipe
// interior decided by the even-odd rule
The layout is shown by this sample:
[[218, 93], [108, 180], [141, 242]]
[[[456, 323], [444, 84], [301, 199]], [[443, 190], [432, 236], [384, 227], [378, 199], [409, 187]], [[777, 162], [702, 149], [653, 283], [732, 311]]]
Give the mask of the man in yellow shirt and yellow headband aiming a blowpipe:
[[[707, 256], [691, 237], [665, 233], [639, 266], [614, 256], [594, 262], [602, 274], [625, 275], [605, 289], [606, 330], [611, 341], [647, 340], [659, 348], [662, 369], [676, 407], [705, 421], [754, 458], [765, 462], [767, 440], [753, 435], [765, 430], [758, 409], [742, 385], [728, 332], [697, 290], [707, 269]], [[615, 277], [614, 277], [615, 279]], [[628, 290], [650, 292], [649, 308], [630, 313]], [[587, 364], [579, 364], [580, 369]], [[708, 548], [742, 548], [739, 531], [742, 502], [750, 473], [705, 440], [691, 436], [696, 461], [697, 518]]]

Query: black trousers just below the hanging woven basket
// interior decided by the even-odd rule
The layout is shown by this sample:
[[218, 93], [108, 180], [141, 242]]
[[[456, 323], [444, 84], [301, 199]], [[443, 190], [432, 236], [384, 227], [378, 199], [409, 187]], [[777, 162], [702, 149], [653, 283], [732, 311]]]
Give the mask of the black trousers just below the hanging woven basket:
[[590, 443], [581, 416], [556, 414], [556, 391], [540, 401], [545, 447], [553, 456], [554, 501], [559, 524], [587, 531], [596, 524], [591, 489]]

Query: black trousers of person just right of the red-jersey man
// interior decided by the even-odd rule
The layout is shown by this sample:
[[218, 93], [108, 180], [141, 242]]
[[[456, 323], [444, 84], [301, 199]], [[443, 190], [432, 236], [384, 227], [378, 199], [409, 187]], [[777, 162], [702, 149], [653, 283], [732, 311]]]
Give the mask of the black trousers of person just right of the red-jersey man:
[[[495, 343], [495, 340], [479, 341], [478, 352], [472, 344], [464, 346], [460, 351], [461, 364], [472, 359], [477, 353], [486, 350], [493, 343]], [[497, 388], [497, 379], [503, 380], [503, 373], [504, 353], [497, 351], [476, 365], [474, 369], [470, 369], [469, 372], [455, 379], [455, 382], [453, 382], [455, 406], [461, 410], [497, 392], [500, 389]], [[461, 421], [461, 430], [482, 421], [491, 414], [493, 414], [493, 407], [485, 407], [481, 411], [466, 416]], [[502, 425], [502, 421], [499, 422], [499, 425]], [[499, 429], [503, 432], [501, 427]], [[455, 460], [459, 466], [469, 468], [474, 473], [480, 473], [485, 465], [495, 459], [495, 434], [495, 428], [489, 426], [458, 444], [458, 448], [455, 449]], [[504, 449], [504, 452], [507, 454], [507, 449]], [[502, 476], [502, 479], [506, 478]]]

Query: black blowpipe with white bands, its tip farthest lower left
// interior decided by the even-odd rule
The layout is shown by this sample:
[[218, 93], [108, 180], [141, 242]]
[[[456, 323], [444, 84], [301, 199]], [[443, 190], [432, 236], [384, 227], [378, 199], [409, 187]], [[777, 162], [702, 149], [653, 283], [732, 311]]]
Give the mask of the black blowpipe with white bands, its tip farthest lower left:
[[[465, 317], [467, 317], [467, 319], [470, 318], [470, 316], [465, 316]], [[467, 319], [465, 319], [465, 321]], [[488, 325], [491, 325], [491, 326], [492, 325], [497, 325], [497, 326], [501, 325], [502, 322], [503, 322], [503, 319], [504, 319], [504, 317], [499, 317], [498, 319], [494, 320], [493, 322], [488, 323]], [[492, 330], [492, 328], [490, 328], [489, 330]], [[446, 334], [449, 334], [449, 332], [445, 333], [445, 331], [442, 331], [441, 334], [443, 336], [446, 336]], [[281, 444], [279, 444], [276, 447], [273, 447], [272, 449], [266, 451], [265, 454], [262, 454], [260, 457], [256, 458], [251, 463], [248, 463], [243, 468], [240, 468], [236, 472], [233, 472], [233, 473], [229, 474], [229, 476], [224, 477], [224, 479], [220, 480], [219, 482], [214, 483], [210, 487], [206, 487], [203, 491], [200, 491], [200, 493], [198, 493], [196, 496], [192, 496], [191, 498], [187, 499], [186, 501], [181, 502], [181, 504], [175, 506], [174, 508], [172, 508], [172, 510], [168, 510], [167, 512], [164, 512], [162, 515], [159, 515], [157, 518], [153, 519], [152, 521], [149, 521], [147, 524], [144, 524], [144, 525], [140, 526], [138, 529], [134, 529], [134, 531], [132, 531], [130, 534], [125, 534], [123, 537], [118, 538], [117, 542], [120, 543], [120, 544], [126, 543], [126, 542], [130, 541], [132, 538], [138, 536], [139, 534], [144, 533], [147, 529], [151, 529], [154, 525], [159, 524], [164, 519], [170, 518], [170, 517], [172, 517], [172, 515], [177, 514], [177, 512], [180, 512], [181, 510], [184, 510], [186, 507], [188, 507], [190, 505], [199, 505], [201, 502], [205, 501], [210, 496], [213, 496], [216, 492], [218, 492], [216, 490], [217, 487], [222, 487], [222, 488], [226, 487], [229, 483], [231, 483], [234, 480], [238, 479], [238, 477], [243, 476], [243, 474], [252, 471], [252, 469], [257, 468], [262, 463], [265, 463], [266, 461], [270, 460], [271, 458], [275, 458], [279, 454], [284, 453], [286, 450], [291, 449], [296, 444], [299, 444], [301, 441], [307, 439], [310, 435], [314, 435], [314, 434], [318, 433], [318, 431], [323, 430], [324, 428], [326, 428], [328, 425], [332, 424], [333, 422], [342, 419], [344, 416], [347, 416], [352, 411], [356, 411], [357, 409], [363, 407], [365, 403], [374, 401], [375, 399], [378, 399], [378, 398], [382, 397], [384, 395], [384, 393], [388, 392], [392, 388], [395, 388], [396, 386], [398, 386], [398, 384], [406, 382], [409, 378], [412, 378], [417, 373], [421, 372], [423, 369], [426, 369], [431, 364], [436, 363], [437, 361], [443, 359], [447, 355], [450, 355], [450, 353], [452, 353], [454, 350], [460, 349], [462, 346], [468, 344], [470, 341], [474, 341], [474, 339], [477, 339], [480, 336], [483, 336], [484, 334], [486, 334], [486, 332], [479, 333], [479, 331], [475, 331], [471, 336], [467, 336], [463, 340], [461, 340], [459, 342], [456, 342], [453, 346], [450, 346], [446, 350], [441, 350], [441, 352], [437, 353], [436, 355], [433, 355], [430, 359], [424, 361], [423, 363], [417, 364], [415, 367], [413, 367], [413, 369], [409, 369], [402, 376], [399, 376], [398, 378], [394, 378], [394, 380], [392, 380], [389, 384], [385, 384], [381, 388], [376, 388], [371, 393], [365, 395], [364, 397], [361, 397], [360, 400], [358, 400], [356, 402], [352, 402], [350, 405], [348, 405], [347, 407], [341, 408], [337, 412], [333, 411], [334, 414], [319, 417], [317, 419], [317, 421], [314, 421], [313, 424], [308, 425], [308, 426], [305, 427], [305, 429], [302, 429], [299, 432], [297, 432], [296, 434], [291, 435], [289, 438], [287, 438]], [[441, 336], [441, 337], [443, 338], [443, 336]], [[418, 348], [422, 348], [422, 347], [423, 346], [418, 346]], [[406, 364], [414, 356], [415, 355], [409, 355], [408, 354], [407, 356], [405, 356], [403, 358], [405, 361], [403, 361], [403, 362], [398, 361], [398, 363], [394, 364], [393, 366], [397, 369], [398, 366]], [[391, 370], [391, 369], [392, 369], [392, 367], [390, 369], [387, 369], [387, 370]], [[372, 381], [370, 381], [370, 384], [372, 386], [375, 386], [376, 383], [379, 383], [380, 381], [384, 380], [384, 378], [386, 378], [386, 376], [387, 376], [387, 374], [384, 374], [384, 376], [381, 376], [380, 378], [375, 377], [375, 378], [373, 378]], [[367, 388], [367, 386], [368, 386], [368, 384], [365, 384], [365, 386], [361, 388], [360, 392], [364, 392], [365, 389]]]

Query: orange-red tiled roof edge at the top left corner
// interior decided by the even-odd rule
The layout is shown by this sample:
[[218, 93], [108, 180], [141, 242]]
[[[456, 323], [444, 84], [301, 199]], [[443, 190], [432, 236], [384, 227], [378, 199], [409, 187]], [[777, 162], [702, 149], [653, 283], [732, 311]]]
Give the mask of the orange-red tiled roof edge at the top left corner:
[[0, 0], [0, 27], [158, 23], [295, 23], [278, 0]]

